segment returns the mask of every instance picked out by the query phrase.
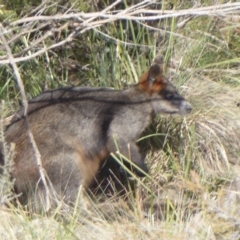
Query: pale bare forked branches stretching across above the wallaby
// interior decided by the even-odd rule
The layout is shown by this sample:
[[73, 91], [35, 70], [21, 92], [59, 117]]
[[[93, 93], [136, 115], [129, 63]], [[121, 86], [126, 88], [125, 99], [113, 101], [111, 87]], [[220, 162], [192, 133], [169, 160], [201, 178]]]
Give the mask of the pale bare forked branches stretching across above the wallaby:
[[[46, 1], [48, 2], [48, 1]], [[45, 3], [46, 3], [45, 2]], [[28, 61], [32, 58], [40, 56], [47, 51], [50, 51], [54, 48], [58, 48], [60, 46], [65, 45], [67, 42], [72, 41], [78, 35], [83, 34], [86, 31], [94, 29], [99, 33], [107, 36], [106, 32], [101, 32], [99, 29], [100, 26], [107, 24], [109, 22], [114, 22], [117, 20], [134, 20], [139, 24], [142, 24], [146, 28], [151, 29], [152, 27], [147, 24], [147, 21], [150, 20], [160, 20], [164, 18], [172, 18], [172, 17], [181, 17], [184, 16], [186, 19], [182, 20], [178, 23], [177, 27], [184, 26], [188, 21], [190, 21], [193, 17], [208, 15], [208, 16], [229, 16], [231, 19], [239, 19], [240, 12], [240, 3], [227, 3], [227, 4], [219, 4], [209, 7], [198, 7], [194, 9], [183, 9], [183, 10], [153, 10], [146, 9], [146, 7], [151, 3], [151, 1], [145, 0], [134, 6], [131, 6], [124, 10], [112, 11], [113, 7], [116, 6], [120, 0], [116, 0], [112, 5], [105, 8], [101, 12], [93, 12], [93, 13], [84, 13], [84, 12], [71, 12], [69, 9], [64, 14], [56, 14], [54, 16], [33, 16], [33, 17], [23, 17], [20, 20], [12, 22], [9, 26], [4, 29], [5, 31], [0, 34], [9, 34], [10, 40], [8, 41], [8, 45], [22, 38], [22, 36], [30, 34], [32, 32], [39, 32], [39, 34], [35, 34], [38, 38], [29, 41], [29, 44], [26, 48], [24, 48], [21, 52], [14, 54], [14, 61], [22, 62]], [[46, 5], [41, 4], [43, 9], [46, 8]], [[43, 9], [37, 7], [38, 14], [43, 12]], [[36, 9], [35, 9], [36, 10]], [[33, 10], [33, 12], [36, 12]], [[235, 14], [235, 15], [234, 15]], [[36, 27], [37, 24], [37, 27]], [[15, 32], [18, 30], [18, 25], [21, 25], [19, 28], [20, 32], [11, 36], [13, 29]], [[43, 28], [46, 27], [50, 30], [44, 32]], [[67, 29], [68, 35], [65, 39], [60, 40], [60, 38], [56, 38], [56, 43], [51, 44], [50, 46], [43, 47], [43, 41], [48, 38], [52, 38], [56, 36], [56, 33], [61, 33], [61, 31]], [[168, 33], [167, 29], [161, 30]], [[176, 34], [172, 33], [171, 34]], [[121, 42], [116, 39], [116, 41]], [[131, 43], [125, 42], [126, 45], [131, 45]], [[0, 47], [1, 48], [1, 47]], [[30, 52], [31, 50], [31, 52]], [[9, 64], [10, 59], [7, 55], [0, 57], [0, 64]]]

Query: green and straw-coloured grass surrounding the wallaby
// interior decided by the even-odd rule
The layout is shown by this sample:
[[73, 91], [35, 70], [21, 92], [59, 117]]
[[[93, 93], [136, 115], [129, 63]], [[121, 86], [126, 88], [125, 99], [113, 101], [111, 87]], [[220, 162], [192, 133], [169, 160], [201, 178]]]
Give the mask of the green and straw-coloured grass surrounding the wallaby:
[[[181, 1], [164, 1], [162, 7], [170, 8], [170, 2], [176, 9], [193, 7]], [[44, 87], [126, 87], [161, 53], [166, 75], [193, 112], [184, 118], [156, 117], [139, 141], [151, 178], [136, 182], [136, 197], [129, 193], [128, 201], [117, 196], [104, 202], [89, 199], [86, 208], [59, 208], [50, 214], [30, 214], [24, 206], [1, 207], [1, 239], [240, 238], [239, 22], [225, 13], [221, 18], [194, 17], [178, 27], [185, 19], [148, 22], [149, 27], [146, 22], [110, 22], [18, 65], [31, 98]], [[12, 51], [20, 52], [31, 39], [24, 36]], [[6, 105], [2, 115], [7, 116], [21, 98], [11, 68], [0, 66], [0, 76], [0, 97]]]

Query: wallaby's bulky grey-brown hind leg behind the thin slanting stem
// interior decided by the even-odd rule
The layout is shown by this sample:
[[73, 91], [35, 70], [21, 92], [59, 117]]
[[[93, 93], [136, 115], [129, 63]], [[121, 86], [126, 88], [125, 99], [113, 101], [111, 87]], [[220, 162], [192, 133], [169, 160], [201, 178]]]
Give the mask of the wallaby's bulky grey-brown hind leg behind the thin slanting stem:
[[[87, 184], [92, 181], [97, 171], [94, 170], [94, 166], [86, 166], [85, 162], [87, 161], [81, 154], [67, 147], [64, 148], [64, 153], [53, 154], [47, 161], [44, 161], [43, 156], [43, 168], [46, 172], [51, 202], [54, 202], [54, 198], [57, 197], [58, 200], [63, 199], [67, 204], [75, 203], [80, 187], [88, 187]], [[23, 161], [17, 166], [18, 169], [23, 169], [21, 164]], [[94, 161], [91, 164], [98, 165]], [[29, 175], [30, 171], [28, 168], [25, 169], [25, 177], [21, 178], [22, 181], [16, 182], [16, 191], [23, 193], [20, 200], [22, 203], [32, 201], [38, 208], [46, 199], [46, 189], [38, 170], [36, 169], [36, 176], [34, 176], [35, 181], [32, 181], [33, 176]], [[16, 172], [14, 177], [19, 179], [19, 174], [21, 172]]]

